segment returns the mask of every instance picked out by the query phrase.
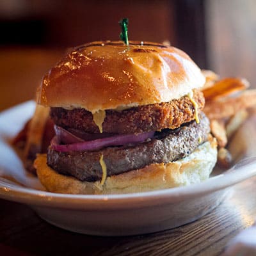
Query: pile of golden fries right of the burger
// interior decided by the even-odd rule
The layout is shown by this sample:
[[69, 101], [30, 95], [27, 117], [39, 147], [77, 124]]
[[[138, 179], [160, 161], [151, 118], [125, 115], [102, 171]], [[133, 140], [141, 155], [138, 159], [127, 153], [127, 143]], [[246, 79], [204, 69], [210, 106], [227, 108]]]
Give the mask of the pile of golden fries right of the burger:
[[210, 70], [203, 70], [206, 82], [202, 88], [205, 97], [204, 113], [211, 124], [211, 132], [218, 143], [218, 164], [229, 168], [232, 156], [225, 148], [228, 141], [248, 117], [248, 108], [256, 105], [256, 90], [246, 90], [246, 79], [220, 79]]

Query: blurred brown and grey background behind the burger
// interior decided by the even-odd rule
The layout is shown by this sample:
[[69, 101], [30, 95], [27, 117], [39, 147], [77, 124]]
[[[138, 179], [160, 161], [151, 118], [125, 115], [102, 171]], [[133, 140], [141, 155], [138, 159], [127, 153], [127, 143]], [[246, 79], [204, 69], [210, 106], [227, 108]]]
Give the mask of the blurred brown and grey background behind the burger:
[[33, 99], [35, 88], [67, 47], [118, 40], [170, 41], [221, 76], [256, 84], [255, 0], [1, 0], [0, 111]]

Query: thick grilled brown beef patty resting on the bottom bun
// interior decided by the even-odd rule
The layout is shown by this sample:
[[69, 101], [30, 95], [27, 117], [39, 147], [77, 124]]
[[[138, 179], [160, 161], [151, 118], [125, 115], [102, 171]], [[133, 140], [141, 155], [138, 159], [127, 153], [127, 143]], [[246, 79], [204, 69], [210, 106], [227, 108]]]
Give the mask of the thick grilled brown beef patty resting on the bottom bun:
[[102, 154], [108, 176], [117, 175], [148, 164], [169, 163], [186, 157], [207, 141], [209, 132], [209, 120], [200, 113], [200, 124], [192, 121], [175, 130], [164, 129], [156, 132], [153, 139], [137, 145], [107, 147], [94, 152], [57, 152], [49, 147], [47, 164], [57, 172], [79, 180], [100, 180]]

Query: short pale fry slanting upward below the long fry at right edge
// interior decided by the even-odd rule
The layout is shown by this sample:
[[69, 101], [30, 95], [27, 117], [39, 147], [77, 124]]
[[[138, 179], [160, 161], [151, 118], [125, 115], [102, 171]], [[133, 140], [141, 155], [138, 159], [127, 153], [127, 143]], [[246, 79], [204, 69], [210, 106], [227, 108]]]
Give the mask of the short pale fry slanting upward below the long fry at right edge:
[[232, 116], [226, 125], [226, 132], [228, 140], [232, 137], [232, 135], [237, 131], [239, 126], [243, 124], [243, 122], [248, 117], [248, 112], [246, 109], [241, 109], [236, 113], [236, 115]]

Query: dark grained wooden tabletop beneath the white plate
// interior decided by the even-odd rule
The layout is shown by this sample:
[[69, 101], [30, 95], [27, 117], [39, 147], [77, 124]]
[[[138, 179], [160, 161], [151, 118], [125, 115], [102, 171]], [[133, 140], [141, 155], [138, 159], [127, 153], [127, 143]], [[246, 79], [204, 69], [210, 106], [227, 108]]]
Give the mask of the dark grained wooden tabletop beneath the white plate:
[[76, 234], [41, 220], [27, 205], [0, 200], [1, 255], [220, 255], [256, 216], [256, 177], [198, 221], [129, 237]]

